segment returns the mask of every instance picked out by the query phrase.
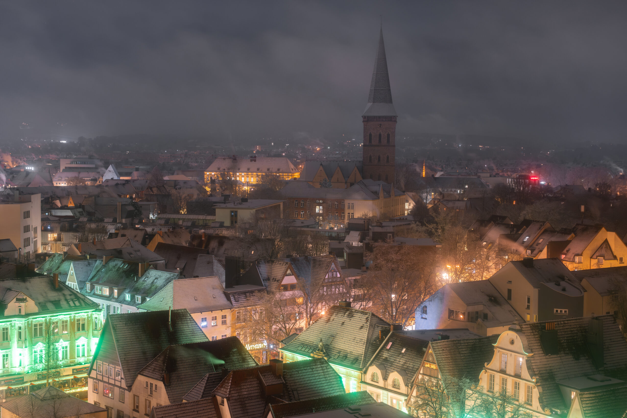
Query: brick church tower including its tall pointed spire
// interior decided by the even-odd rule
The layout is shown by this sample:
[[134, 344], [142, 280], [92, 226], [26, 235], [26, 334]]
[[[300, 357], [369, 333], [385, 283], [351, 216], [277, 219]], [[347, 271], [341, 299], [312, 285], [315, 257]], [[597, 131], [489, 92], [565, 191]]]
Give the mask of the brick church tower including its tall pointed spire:
[[394, 184], [396, 157], [396, 110], [387, 75], [386, 48], [383, 29], [379, 34], [379, 50], [374, 61], [368, 104], [362, 115], [364, 123], [364, 179], [382, 180]]

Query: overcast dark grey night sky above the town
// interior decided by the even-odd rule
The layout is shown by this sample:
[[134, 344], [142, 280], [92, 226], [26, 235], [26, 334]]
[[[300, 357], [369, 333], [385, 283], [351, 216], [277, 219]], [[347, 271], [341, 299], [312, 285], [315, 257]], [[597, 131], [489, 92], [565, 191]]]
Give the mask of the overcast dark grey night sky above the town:
[[399, 132], [627, 142], [627, 3], [573, 1], [6, 1], [0, 140], [359, 133], [380, 14]]

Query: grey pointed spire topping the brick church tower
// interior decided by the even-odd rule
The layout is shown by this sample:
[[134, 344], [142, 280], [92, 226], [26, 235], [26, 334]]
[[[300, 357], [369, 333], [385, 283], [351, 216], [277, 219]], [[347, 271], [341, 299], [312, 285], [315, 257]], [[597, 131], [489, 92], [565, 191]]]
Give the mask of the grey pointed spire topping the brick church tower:
[[371, 115], [396, 116], [396, 110], [392, 105], [390, 79], [387, 74], [386, 48], [383, 43], [383, 28], [379, 31], [379, 50], [377, 50], [377, 58], [374, 61], [374, 70], [372, 70], [372, 81], [370, 83], [368, 105], [364, 111], [364, 116]]

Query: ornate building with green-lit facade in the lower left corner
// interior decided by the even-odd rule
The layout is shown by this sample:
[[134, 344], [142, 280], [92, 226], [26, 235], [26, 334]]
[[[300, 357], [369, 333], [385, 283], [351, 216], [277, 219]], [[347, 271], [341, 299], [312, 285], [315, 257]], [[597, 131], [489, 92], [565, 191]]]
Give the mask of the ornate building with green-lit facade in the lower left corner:
[[58, 277], [0, 281], [0, 398], [26, 395], [46, 385], [46, 350], [58, 352], [54, 385], [85, 392], [86, 372], [100, 336], [97, 303]]

